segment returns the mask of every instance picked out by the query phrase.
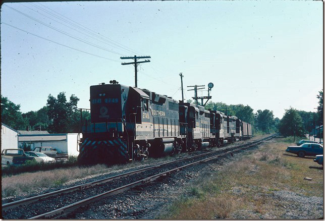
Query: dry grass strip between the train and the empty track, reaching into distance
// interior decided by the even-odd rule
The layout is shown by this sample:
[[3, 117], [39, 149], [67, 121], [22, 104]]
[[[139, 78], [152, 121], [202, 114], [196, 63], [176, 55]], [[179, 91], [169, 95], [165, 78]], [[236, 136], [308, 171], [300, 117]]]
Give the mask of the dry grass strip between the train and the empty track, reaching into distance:
[[[250, 141], [261, 139], [268, 135], [253, 137]], [[236, 142], [232, 145], [240, 145], [245, 141]], [[216, 148], [213, 148], [213, 150]], [[186, 157], [188, 153], [180, 153], [177, 157]], [[10, 197], [21, 194], [28, 194], [40, 188], [57, 187], [75, 179], [82, 179], [89, 175], [101, 175], [119, 170], [145, 167], [150, 164], [163, 161], [175, 160], [175, 156], [165, 156], [160, 158], [148, 158], [144, 161], [134, 161], [127, 164], [113, 166], [93, 165], [90, 167], [78, 167], [75, 158], [70, 158], [65, 163], [44, 164], [28, 162], [19, 167], [4, 167], [2, 169], [2, 195]]]

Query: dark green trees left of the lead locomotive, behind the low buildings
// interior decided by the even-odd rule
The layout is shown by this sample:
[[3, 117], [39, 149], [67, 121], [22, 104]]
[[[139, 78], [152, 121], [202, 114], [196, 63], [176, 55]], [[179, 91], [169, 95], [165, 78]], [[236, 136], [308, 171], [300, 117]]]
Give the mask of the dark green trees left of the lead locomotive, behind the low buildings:
[[[15, 104], [1, 96], [1, 121], [16, 130], [42, 130], [49, 133], [78, 133], [80, 130], [79, 98], [72, 94], [67, 100], [65, 92], [57, 97], [51, 94], [47, 103], [38, 111], [20, 112], [20, 104]], [[90, 114], [83, 111], [83, 118]]]

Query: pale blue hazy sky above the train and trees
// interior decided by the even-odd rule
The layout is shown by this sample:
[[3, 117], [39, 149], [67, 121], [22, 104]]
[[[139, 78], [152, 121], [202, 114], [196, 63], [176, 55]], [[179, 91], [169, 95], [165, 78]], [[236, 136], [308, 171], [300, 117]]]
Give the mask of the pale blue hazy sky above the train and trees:
[[[125, 56], [150, 56], [138, 87], [214, 102], [314, 111], [323, 88], [321, 1], [114, 1], [5, 3], [1, 7], [1, 94], [37, 111], [66, 92], [89, 108], [89, 87], [134, 86]], [[143, 61], [144, 59], [140, 60]]]

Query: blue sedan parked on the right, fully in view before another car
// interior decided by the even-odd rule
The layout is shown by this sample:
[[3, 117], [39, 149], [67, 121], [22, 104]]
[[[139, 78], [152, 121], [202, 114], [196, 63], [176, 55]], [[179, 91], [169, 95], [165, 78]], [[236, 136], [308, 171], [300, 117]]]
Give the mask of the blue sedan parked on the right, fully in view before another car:
[[288, 146], [286, 152], [295, 153], [299, 157], [316, 156], [323, 153], [323, 146], [318, 143], [304, 143], [300, 146]]

